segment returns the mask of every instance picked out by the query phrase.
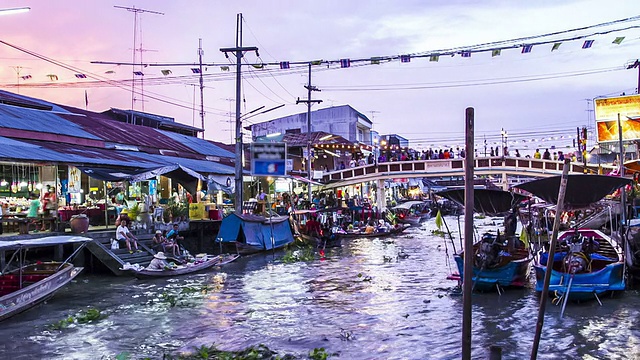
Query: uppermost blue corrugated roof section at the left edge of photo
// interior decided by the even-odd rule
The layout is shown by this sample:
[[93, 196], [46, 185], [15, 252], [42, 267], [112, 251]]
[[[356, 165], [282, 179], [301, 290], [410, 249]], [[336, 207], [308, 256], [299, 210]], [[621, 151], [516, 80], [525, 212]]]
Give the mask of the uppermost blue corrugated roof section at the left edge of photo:
[[[65, 111], [65, 113], [67, 112]], [[6, 104], [0, 104], [0, 127], [68, 135], [93, 140], [100, 139], [98, 136], [85, 131], [78, 124], [65, 120], [58, 113]]]

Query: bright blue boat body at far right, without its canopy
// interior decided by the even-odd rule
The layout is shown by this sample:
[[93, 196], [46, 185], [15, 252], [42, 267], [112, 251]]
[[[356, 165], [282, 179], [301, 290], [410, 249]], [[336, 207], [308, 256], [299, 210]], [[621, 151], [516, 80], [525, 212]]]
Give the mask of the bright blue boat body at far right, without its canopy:
[[[622, 247], [593, 229], [564, 231], [558, 235], [549, 293], [559, 301], [598, 299], [598, 295], [625, 289]], [[536, 291], [543, 290], [549, 253], [543, 249], [534, 261]]]

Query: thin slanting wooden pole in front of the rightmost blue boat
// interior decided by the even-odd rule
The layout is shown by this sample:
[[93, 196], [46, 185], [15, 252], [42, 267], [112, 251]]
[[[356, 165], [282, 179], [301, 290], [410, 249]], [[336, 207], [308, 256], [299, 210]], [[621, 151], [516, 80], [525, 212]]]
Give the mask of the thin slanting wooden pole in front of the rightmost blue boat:
[[542, 293], [540, 294], [540, 307], [538, 309], [538, 322], [536, 323], [536, 335], [533, 339], [533, 347], [531, 349], [531, 360], [538, 358], [538, 346], [540, 345], [540, 337], [542, 336], [542, 327], [544, 326], [544, 312], [547, 307], [547, 299], [549, 297], [549, 283], [551, 282], [551, 271], [553, 268], [553, 257], [556, 254], [556, 243], [558, 242], [558, 230], [560, 229], [560, 218], [564, 211], [564, 194], [567, 190], [567, 181], [569, 180], [569, 163], [571, 159], [564, 159], [562, 167], [562, 177], [560, 178], [560, 190], [558, 192], [558, 204], [556, 204], [556, 218], [553, 221], [553, 234], [551, 235], [551, 244], [549, 245], [549, 257], [547, 258], [547, 269], [544, 272], [544, 284], [542, 285]]

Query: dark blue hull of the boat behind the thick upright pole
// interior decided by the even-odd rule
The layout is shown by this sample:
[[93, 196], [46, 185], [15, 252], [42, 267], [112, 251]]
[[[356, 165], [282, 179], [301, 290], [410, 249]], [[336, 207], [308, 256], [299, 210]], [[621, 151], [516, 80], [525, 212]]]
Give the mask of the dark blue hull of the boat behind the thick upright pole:
[[[464, 259], [455, 255], [460, 278], [464, 278]], [[477, 291], [493, 291], [500, 287], [524, 287], [529, 274], [530, 259], [510, 261], [504, 266], [492, 269], [473, 267], [473, 289]]]

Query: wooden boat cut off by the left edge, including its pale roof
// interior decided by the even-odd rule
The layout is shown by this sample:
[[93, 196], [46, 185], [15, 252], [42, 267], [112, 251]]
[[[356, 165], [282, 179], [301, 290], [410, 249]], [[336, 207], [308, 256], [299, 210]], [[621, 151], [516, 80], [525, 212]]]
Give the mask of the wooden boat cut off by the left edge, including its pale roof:
[[[83, 268], [75, 267], [69, 261], [89, 241], [92, 239], [79, 236], [50, 236], [0, 243], [0, 250], [14, 251], [0, 275], [0, 321], [50, 299], [56, 291], [73, 280]], [[80, 246], [63, 262], [22, 263], [25, 249], [74, 243]], [[18, 263], [18, 267], [6, 271], [14, 262]]]

